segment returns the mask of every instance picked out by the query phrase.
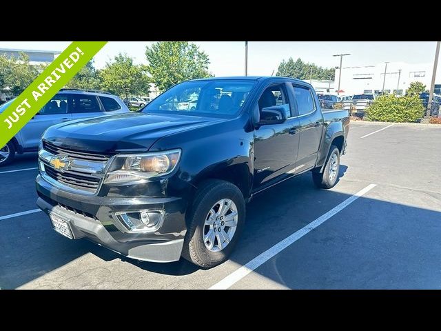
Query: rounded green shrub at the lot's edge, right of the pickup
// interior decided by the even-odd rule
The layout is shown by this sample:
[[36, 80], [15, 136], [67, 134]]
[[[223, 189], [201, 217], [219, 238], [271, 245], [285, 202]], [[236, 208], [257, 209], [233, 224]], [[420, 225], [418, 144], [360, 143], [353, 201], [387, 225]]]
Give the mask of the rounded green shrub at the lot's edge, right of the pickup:
[[415, 122], [424, 116], [424, 106], [418, 95], [396, 97], [382, 95], [365, 110], [367, 121]]

